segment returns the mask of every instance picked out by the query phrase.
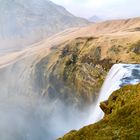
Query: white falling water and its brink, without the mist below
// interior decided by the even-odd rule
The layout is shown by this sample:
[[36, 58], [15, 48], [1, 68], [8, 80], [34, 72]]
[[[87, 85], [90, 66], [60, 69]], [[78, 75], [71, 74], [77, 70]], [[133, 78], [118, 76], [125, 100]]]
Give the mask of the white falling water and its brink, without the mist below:
[[88, 124], [99, 121], [103, 118], [103, 111], [100, 109], [100, 102], [105, 101], [112, 92], [122, 86], [140, 83], [140, 64], [115, 64], [109, 71], [106, 80], [101, 88], [99, 98], [94, 105]]

